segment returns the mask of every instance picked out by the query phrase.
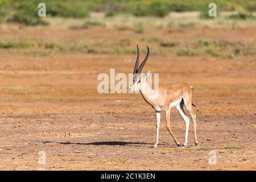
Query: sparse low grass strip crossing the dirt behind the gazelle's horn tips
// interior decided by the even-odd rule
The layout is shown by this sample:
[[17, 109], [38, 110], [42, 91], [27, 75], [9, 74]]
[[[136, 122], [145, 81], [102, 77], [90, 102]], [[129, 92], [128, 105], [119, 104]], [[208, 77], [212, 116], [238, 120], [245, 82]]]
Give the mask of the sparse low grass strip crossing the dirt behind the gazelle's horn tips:
[[[98, 26], [98, 25], [97, 25]], [[130, 30], [133, 31], [133, 30]], [[256, 49], [253, 42], [230, 42], [228, 40], [205, 40], [197, 39], [187, 42], [173, 42], [160, 37], [143, 38], [145, 43], [158, 44], [151, 51], [151, 55], [163, 55], [174, 53], [177, 56], [211, 56], [233, 59], [237, 56], [255, 56]], [[3, 40], [0, 41], [0, 51], [8, 50], [21, 55], [32, 56], [51, 56], [55, 53], [101, 53], [101, 54], [123, 54], [137, 53], [136, 48], [131, 48], [134, 40], [131, 38], [104, 40], [97, 42], [79, 42], [70, 43], [68, 40], [63, 42], [44, 42], [39, 39], [22, 40]], [[146, 53], [146, 50], [142, 50]]]

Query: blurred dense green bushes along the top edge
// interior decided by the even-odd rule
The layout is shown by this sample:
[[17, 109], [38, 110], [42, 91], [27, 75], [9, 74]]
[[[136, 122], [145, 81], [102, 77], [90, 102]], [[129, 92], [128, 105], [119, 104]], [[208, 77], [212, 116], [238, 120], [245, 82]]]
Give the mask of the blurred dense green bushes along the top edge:
[[[14, 21], [28, 25], [43, 24], [38, 18], [38, 3], [40, 0], [0, 0], [0, 22]], [[208, 7], [210, 2], [217, 4], [217, 10], [245, 12], [256, 11], [255, 0], [44, 0], [47, 16], [63, 16], [72, 18], [88, 17], [90, 12], [105, 12], [106, 16], [119, 13], [135, 16], [166, 16], [171, 11], [201, 11]], [[204, 12], [203, 12], [204, 13]], [[202, 14], [203, 16], [204, 14]], [[238, 14], [244, 19], [245, 14]]]

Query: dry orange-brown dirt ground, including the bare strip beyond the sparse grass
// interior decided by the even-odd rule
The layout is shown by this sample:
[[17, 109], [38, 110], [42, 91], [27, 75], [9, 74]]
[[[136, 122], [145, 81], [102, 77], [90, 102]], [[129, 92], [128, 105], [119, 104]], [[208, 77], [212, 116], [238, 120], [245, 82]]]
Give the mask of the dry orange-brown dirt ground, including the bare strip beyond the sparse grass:
[[[169, 32], [185, 41], [253, 39], [255, 29], [184, 30]], [[3, 29], [0, 39], [115, 39], [162, 35], [158, 30], [135, 34], [104, 28]], [[149, 35], [148, 35], [149, 36]], [[146, 43], [140, 43], [145, 48]], [[150, 43], [154, 49], [154, 43]], [[97, 75], [131, 73], [135, 54], [56, 53], [26, 56], [1, 49], [0, 56], [0, 169], [21, 170], [255, 170], [256, 61], [255, 57], [224, 59], [211, 56], [152, 55], [144, 72], [159, 73], [160, 85], [187, 82], [195, 90], [197, 138], [193, 122], [187, 147], [177, 147], [168, 134], [162, 113], [158, 148], [154, 110], [140, 94], [99, 94]], [[143, 57], [143, 53], [142, 56]], [[254, 60], [254, 61], [252, 61]], [[185, 122], [171, 111], [171, 129], [184, 142]], [[46, 164], [38, 164], [38, 152]], [[217, 164], [209, 164], [209, 152]]]

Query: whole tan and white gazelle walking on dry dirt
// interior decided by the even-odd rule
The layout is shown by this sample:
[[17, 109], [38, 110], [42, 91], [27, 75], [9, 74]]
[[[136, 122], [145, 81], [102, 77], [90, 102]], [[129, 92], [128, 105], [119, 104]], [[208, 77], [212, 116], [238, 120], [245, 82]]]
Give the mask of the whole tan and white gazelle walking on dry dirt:
[[149, 56], [149, 48], [147, 47], [147, 55], [143, 60], [142, 64], [139, 66], [139, 47], [137, 45], [137, 60], [134, 66], [134, 78], [133, 85], [130, 86], [129, 91], [134, 92], [139, 90], [142, 94], [142, 97], [147, 102], [147, 104], [151, 105], [155, 110], [156, 114], [156, 138], [154, 147], [158, 145], [158, 136], [159, 136], [159, 126], [160, 126], [160, 111], [165, 111], [166, 113], [166, 127], [172, 138], [174, 138], [177, 146], [180, 146], [180, 142], [176, 139], [174, 134], [170, 128], [170, 110], [171, 107], [176, 107], [177, 111], [179, 111], [180, 115], [183, 117], [186, 123], [185, 129], [185, 142], [184, 146], [187, 146], [188, 142], [188, 129], [189, 129], [189, 117], [184, 112], [184, 105], [187, 108], [189, 114], [193, 119], [194, 123], [194, 142], [197, 145], [197, 137], [196, 137], [196, 114], [192, 110], [192, 97], [193, 97], [193, 88], [192, 86], [185, 84], [184, 82], [179, 82], [176, 84], [171, 84], [168, 86], [160, 86], [158, 89], [151, 89], [147, 83], [147, 77], [150, 76], [150, 71], [146, 73], [146, 75], [142, 76], [141, 71], [144, 65], [147, 62]]

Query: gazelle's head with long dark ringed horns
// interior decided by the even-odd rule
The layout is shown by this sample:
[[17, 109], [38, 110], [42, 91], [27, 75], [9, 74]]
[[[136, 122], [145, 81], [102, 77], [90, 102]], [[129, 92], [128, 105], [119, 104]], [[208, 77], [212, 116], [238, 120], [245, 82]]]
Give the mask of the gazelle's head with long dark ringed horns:
[[138, 45], [137, 45], [137, 51], [138, 51], [137, 52], [137, 60], [136, 60], [136, 63], [134, 66], [134, 71], [133, 71], [133, 85], [131, 85], [129, 87], [130, 92], [140, 90], [141, 86], [142, 86], [142, 82], [146, 81], [146, 78], [148, 76], [150, 76], [150, 71], [148, 71], [147, 74], [144, 76], [141, 75], [142, 68], [146, 64], [148, 56], [149, 56], [149, 48], [147, 47], [147, 55], [146, 55], [144, 61], [142, 62], [142, 64], [139, 66], [139, 68], [138, 68], [138, 65], [139, 65], [139, 47], [138, 47]]

